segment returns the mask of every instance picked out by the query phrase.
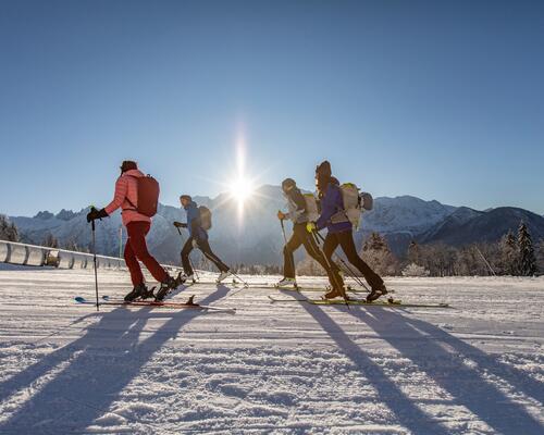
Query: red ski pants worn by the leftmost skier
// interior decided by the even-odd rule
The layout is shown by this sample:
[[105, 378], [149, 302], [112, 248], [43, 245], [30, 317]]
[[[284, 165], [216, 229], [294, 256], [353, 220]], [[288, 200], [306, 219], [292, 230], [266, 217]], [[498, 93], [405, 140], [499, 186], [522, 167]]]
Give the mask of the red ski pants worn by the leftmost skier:
[[125, 262], [131, 272], [133, 285], [135, 286], [144, 283], [144, 275], [141, 274], [138, 260], [146, 265], [147, 270], [159, 283], [166, 281], [168, 277], [166, 271], [162, 269], [147, 250], [146, 235], [150, 228], [151, 224], [149, 222], [131, 222], [126, 225], [128, 240], [126, 240], [125, 246]]

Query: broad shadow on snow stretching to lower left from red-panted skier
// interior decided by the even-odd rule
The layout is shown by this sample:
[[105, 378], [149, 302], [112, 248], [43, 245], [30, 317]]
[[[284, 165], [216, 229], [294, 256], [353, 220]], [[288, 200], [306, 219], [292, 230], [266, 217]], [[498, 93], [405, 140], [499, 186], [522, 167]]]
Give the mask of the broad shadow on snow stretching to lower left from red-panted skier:
[[[227, 293], [227, 287], [218, 286], [217, 291], [199, 302], [210, 304]], [[159, 330], [138, 341], [147, 320], [156, 316], [154, 310], [119, 308], [103, 313], [82, 338], [0, 385], [1, 397], [8, 398], [63, 365], [53, 380], [0, 424], [0, 433], [58, 434], [60, 421], [63, 431], [83, 432], [108, 412], [111, 403], [138, 376], [153, 353], [198, 315], [201, 312], [197, 310], [172, 312], [170, 320]], [[111, 331], [106, 345], [104, 331]]]

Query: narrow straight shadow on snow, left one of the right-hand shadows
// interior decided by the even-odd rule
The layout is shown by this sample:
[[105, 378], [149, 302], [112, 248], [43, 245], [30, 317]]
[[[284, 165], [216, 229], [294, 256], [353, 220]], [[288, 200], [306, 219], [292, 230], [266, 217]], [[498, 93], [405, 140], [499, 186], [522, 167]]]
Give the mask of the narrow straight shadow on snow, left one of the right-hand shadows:
[[[383, 369], [345, 333], [320, 307], [301, 303], [302, 308], [321, 325], [351, 362], [366, 373], [366, 377], [376, 394], [378, 401], [388, 407], [399, 423], [415, 434], [445, 435], [448, 433], [438, 421], [424, 413], [387, 376]], [[338, 381], [339, 382], [339, 381]], [[361, 411], [362, 414], [362, 411]]]

